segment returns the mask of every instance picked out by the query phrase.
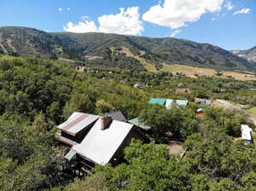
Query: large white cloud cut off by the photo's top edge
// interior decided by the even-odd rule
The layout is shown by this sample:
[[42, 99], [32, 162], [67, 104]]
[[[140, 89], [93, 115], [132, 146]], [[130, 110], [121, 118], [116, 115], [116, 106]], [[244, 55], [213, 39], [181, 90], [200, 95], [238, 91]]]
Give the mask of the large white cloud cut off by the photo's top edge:
[[172, 29], [187, 26], [201, 19], [202, 14], [215, 13], [224, 7], [224, 0], [165, 0], [143, 14], [143, 20]]

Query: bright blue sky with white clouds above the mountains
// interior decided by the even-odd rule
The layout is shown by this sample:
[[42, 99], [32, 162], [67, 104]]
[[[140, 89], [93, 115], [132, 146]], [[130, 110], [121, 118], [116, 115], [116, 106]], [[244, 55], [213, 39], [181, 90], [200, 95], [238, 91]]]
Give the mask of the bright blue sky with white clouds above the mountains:
[[256, 46], [256, 0], [0, 0], [0, 26]]

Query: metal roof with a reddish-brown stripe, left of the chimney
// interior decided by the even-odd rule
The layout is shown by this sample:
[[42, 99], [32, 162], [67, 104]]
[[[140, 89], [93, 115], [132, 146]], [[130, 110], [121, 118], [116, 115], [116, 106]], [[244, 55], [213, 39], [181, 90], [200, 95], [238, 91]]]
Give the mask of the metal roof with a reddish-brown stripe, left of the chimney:
[[58, 125], [58, 129], [66, 132], [72, 136], [76, 136], [79, 131], [84, 130], [90, 124], [99, 119], [98, 115], [91, 115], [88, 113], [74, 112], [64, 123]]

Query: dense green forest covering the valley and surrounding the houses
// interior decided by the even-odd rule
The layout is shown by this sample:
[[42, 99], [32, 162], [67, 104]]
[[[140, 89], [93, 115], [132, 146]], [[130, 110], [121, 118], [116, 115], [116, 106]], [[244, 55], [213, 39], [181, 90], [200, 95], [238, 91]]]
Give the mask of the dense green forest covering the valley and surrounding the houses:
[[[64, 61], [0, 56], [0, 190], [256, 190], [256, 148], [234, 137], [241, 124], [254, 128], [243, 110], [201, 106], [195, 97], [256, 106], [256, 82], [169, 72], [86, 68]], [[144, 84], [142, 88], [133, 85]], [[177, 88], [190, 88], [177, 95]], [[149, 98], [188, 99], [166, 109]], [[198, 117], [198, 108], [206, 109]], [[74, 111], [121, 111], [152, 127], [150, 143], [134, 140], [121, 165], [96, 166], [75, 177], [67, 148], [55, 140], [56, 125]], [[172, 136], [166, 135], [172, 132]], [[183, 142], [185, 154], [169, 153], [166, 142]]]

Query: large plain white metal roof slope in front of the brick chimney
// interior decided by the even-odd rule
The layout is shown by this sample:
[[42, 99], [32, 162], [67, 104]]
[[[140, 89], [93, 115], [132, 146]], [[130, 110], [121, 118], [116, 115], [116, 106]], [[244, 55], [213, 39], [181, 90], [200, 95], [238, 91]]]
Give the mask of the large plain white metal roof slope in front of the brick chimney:
[[72, 149], [85, 159], [99, 165], [106, 165], [124, 142], [132, 127], [133, 124], [113, 120], [108, 129], [101, 130], [99, 119], [84, 137], [83, 142], [74, 145]]

